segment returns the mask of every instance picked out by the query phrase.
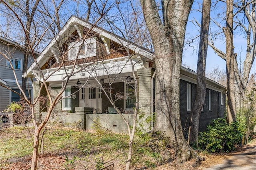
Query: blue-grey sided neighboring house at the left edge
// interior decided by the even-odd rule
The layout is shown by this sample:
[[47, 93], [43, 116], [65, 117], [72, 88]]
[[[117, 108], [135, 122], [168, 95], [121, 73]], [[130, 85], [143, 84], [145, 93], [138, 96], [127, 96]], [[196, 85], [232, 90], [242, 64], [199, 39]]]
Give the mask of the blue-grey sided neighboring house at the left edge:
[[[38, 53], [37, 53], [38, 54]], [[18, 83], [22, 84], [22, 65], [24, 62], [24, 47], [22, 45], [8, 40], [0, 36], [0, 83], [10, 89], [20, 93], [18, 85], [14, 77], [14, 73], [10, 66], [10, 62], [4, 57], [6, 55], [10, 58], [11, 63], [14, 67]], [[30, 66], [32, 60], [28, 60], [28, 66]], [[28, 81], [28, 87], [26, 89], [26, 95], [33, 96], [32, 82]], [[20, 101], [20, 96], [16, 93], [0, 86], [0, 113], [6, 109], [6, 106], [10, 105], [13, 101]]]

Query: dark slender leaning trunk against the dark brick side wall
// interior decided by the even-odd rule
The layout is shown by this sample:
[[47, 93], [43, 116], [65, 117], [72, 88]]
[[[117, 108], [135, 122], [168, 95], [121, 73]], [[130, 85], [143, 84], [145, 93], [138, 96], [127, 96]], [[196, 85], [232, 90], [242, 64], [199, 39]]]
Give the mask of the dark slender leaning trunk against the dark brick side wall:
[[196, 70], [196, 98], [194, 100], [192, 109], [191, 109], [191, 120], [190, 120], [190, 141], [194, 142], [198, 146], [198, 126], [199, 126], [199, 117], [204, 106], [204, 100], [206, 95], [206, 83], [205, 83], [205, 64], [208, 48], [208, 33], [209, 33], [209, 24], [210, 24], [210, 9], [211, 9], [211, 0], [203, 1], [202, 8], [202, 22], [201, 22], [201, 31], [200, 31], [200, 42], [199, 42], [199, 52], [198, 52], [198, 61], [197, 61], [197, 70]]

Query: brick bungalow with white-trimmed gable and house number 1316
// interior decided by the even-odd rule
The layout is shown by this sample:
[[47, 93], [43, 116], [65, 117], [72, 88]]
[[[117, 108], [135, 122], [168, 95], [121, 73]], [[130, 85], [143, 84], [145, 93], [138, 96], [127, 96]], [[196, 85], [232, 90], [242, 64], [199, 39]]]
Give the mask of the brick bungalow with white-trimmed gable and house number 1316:
[[[88, 34], [90, 29], [91, 32]], [[87, 38], [83, 42], [84, 36], [87, 36]], [[125, 49], [128, 49], [128, 51]], [[63, 55], [60, 55], [60, 53]], [[64, 56], [64, 58], [61, 58], [61, 56]], [[76, 59], [77, 56], [78, 59]], [[117, 119], [119, 120], [117, 118], [119, 115], [113, 117], [110, 114], [87, 114], [84, 117], [78, 113], [84, 115], [84, 112], [88, 110], [86, 108], [94, 108], [96, 113], [112, 113], [111, 108], [109, 108], [112, 105], [106, 95], [98, 88], [98, 82], [101, 82], [107, 89], [109, 80], [114, 80], [114, 83], [112, 89], [108, 89], [108, 92], [113, 94], [113, 97], [119, 97], [115, 102], [116, 106], [124, 113], [132, 113], [135, 96], [130, 58], [138, 78], [140, 111], [144, 112], [146, 116], [150, 116], [154, 112], [154, 52], [130, 43], [102, 28], [96, 26], [92, 28], [92, 24], [74, 16], [68, 20], [57, 38], [54, 38], [38, 56], [37, 62], [43, 75], [40, 75], [38, 67], [33, 63], [24, 76], [34, 76], [42, 81], [42, 77], [46, 78], [50, 75], [47, 82], [54, 97], [60, 91], [66, 73], [72, 71], [72, 64], [76, 61], [74, 73], [63, 93], [64, 99], [56, 106], [56, 110], [60, 113], [58, 117], [64, 117], [63, 119], [68, 122], [82, 120], [83, 128], [91, 128], [89, 126], [91, 122], [89, 121], [95, 118], [94, 115], [98, 115], [100, 118], [112, 119], [111, 125], [106, 126], [113, 129], [124, 124], [121, 119], [120, 123], [116, 122]], [[59, 68], [62, 60], [66, 67]], [[80, 70], [80, 68], [83, 69]], [[114, 77], [116, 78], [114, 79]], [[71, 95], [79, 89], [80, 82], [84, 83], [86, 81], [86, 85], [79, 92]], [[39, 83], [34, 82], [34, 87], [36, 86], [39, 87]], [[211, 119], [224, 117], [225, 111], [224, 94], [226, 88], [210, 79], [206, 79], [206, 88], [206, 100], [200, 115], [200, 130], [204, 130]], [[38, 94], [37, 89], [34, 88], [34, 94]], [[195, 93], [196, 73], [182, 67], [180, 115], [184, 128], [189, 126], [190, 110]], [[124, 97], [120, 97], [120, 94]], [[76, 117], [79, 117], [79, 119], [76, 119]], [[150, 125], [147, 128], [150, 128]], [[120, 132], [124, 129], [115, 130]]]

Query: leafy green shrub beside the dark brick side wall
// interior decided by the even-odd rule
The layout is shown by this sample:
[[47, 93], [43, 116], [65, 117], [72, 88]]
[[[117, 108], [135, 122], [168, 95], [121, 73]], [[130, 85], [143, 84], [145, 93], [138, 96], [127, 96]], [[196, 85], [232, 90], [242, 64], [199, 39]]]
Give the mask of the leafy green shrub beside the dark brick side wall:
[[229, 152], [238, 146], [242, 140], [238, 122], [228, 125], [225, 119], [215, 119], [199, 133], [198, 145], [208, 152]]

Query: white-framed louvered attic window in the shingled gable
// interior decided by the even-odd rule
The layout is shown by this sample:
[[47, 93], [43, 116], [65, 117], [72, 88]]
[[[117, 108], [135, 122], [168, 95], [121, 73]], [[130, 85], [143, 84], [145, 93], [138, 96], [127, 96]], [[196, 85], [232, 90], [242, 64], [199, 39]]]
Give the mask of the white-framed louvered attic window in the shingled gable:
[[[81, 45], [83, 44], [83, 40], [79, 41], [79, 42], [72, 42], [70, 43], [70, 45], [68, 46], [68, 60], [74, 60], [77, 57], [79, 48], [81, 47]], [[96, 38], [88, 38], [86, 40], [84, 40], [84, 49], [81, 48], [81, 50], [84, 50], [84, 54], [82, 55], [78, 55], [77, 59], [82, 59], [82, 58], [87, 58], [87, 57], [94, 57], [96, 56]], [[88, 48], [88, 46], [90, 46], [90, 48]], [[75, 48], [76, 49], [76, 53], [72, 55], [72, 50]], [[92, 50], [90, 50], [92, 49]], [[88, 52], [90, 50], [90, 52]]]

